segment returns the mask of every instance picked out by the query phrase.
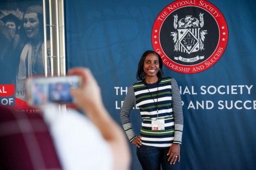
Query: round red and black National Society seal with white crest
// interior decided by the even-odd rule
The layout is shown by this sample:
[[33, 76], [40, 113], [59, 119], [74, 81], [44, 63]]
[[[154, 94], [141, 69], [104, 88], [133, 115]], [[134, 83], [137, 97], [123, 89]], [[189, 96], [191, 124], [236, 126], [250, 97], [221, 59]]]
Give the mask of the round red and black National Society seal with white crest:
[[223, 55], [228, 28], [220, 10], [207, 1], [175, 1], [157, 16], [152, 45], [168, 68], [194, 74]]

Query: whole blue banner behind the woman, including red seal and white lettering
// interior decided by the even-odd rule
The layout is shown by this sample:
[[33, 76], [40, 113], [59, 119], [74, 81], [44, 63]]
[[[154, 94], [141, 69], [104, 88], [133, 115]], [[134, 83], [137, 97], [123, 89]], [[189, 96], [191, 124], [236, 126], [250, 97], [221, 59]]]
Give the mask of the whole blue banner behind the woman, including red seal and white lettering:
[[[182, 169], [256, 168], [255, 1], [65, 1], [67, 67], [89, 67], [120, 123], [146, 50], [180, 86]], [[141, 117], [131, 119], [139, 135]], [[128, 142], [128, 140], [127, 140]], [[131, 169], [141, 169], [132, 151]]]

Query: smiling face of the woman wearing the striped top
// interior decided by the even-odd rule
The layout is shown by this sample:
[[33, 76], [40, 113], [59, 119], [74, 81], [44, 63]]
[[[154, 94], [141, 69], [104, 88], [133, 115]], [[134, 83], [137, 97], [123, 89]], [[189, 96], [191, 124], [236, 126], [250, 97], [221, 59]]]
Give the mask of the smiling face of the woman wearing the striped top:
[[148, 77], [157, 77], [159, 71], [159, 59], [154, 53], [148, 54], [143, 64], [143, 70]]

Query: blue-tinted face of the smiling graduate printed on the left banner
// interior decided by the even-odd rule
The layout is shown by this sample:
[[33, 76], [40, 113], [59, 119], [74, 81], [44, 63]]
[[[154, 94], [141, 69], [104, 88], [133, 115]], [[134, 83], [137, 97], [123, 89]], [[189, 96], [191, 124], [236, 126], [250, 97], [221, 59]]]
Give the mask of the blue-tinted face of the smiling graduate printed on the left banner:
[[29, 38], [35, 38], [39, 35], [39, 19], [37, 13], [28, 13], [24, 15], [23, 27]]

